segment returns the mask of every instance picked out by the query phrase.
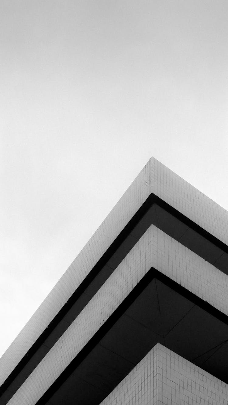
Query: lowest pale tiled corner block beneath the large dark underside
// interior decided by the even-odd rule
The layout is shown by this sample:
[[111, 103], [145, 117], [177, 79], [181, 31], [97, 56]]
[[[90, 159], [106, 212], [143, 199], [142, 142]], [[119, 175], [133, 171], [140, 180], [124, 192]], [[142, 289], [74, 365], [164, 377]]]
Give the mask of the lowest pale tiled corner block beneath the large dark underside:
[[228, 385], [157, 343], [100, 405], [228, 405]]

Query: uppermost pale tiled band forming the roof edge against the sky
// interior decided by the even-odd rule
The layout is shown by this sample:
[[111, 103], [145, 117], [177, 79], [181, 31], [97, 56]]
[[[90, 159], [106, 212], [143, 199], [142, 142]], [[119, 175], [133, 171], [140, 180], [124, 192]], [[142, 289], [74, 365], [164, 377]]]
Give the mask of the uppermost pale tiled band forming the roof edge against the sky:
[[0, 384], [26, 356], [94, 266], [115, 243], [124, 227], [151, 196], [161, 199], [179, 215], [195, 224], [197, 230], [219, 246], [225, 255], [228, 254], [228, 211], [151, 158], [0, 358]]

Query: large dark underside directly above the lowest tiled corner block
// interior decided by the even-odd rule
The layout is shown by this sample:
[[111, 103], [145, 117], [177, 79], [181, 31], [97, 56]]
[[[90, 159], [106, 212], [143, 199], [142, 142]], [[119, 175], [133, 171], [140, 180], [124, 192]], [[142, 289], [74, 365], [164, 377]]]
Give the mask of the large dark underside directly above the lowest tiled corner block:
[[158, 342], [228, 382], [228, 317], [151, 269], [36, 405], [99, 405]]

